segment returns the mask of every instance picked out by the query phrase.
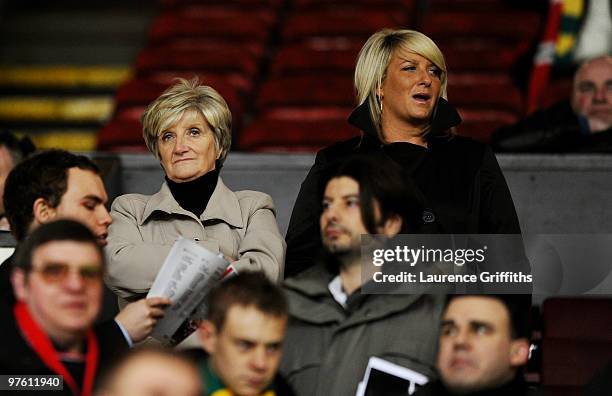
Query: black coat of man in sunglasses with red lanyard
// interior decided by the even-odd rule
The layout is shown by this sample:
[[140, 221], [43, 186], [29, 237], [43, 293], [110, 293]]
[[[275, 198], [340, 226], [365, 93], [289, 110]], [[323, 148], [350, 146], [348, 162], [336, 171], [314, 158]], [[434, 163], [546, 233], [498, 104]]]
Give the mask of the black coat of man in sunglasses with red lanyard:
[[[39, 358], [28, 342], [21, 336], [15, 315], [8, 310], [5, 302], [0, 303], [2, 309], [2, 321], [0, 322], [0, 374], [22, 374], [22, 375], [56, 375]], [[94, 328], [98, 339], [99, 357], [96, 381], [104, 372], [112, 367], [112, 363], [125, 354], [129, 347], [123, 333], [114, 320], [97, 325]], [[59, 391], [31, 391], [36, 395], [73, 396], [70, 387], [64, 383], [64, 389]], [[0, 392], [4, 394], [24, 395], [26, 391]]]

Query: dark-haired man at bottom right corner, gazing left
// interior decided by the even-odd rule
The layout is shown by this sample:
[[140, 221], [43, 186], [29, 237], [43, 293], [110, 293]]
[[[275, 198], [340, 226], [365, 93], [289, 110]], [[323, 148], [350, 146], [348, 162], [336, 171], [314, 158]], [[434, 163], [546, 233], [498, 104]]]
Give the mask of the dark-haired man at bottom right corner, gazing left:
[[440, 381], [418, 395], [527, 395], [530, 296], [454, 295], [442, 316]]

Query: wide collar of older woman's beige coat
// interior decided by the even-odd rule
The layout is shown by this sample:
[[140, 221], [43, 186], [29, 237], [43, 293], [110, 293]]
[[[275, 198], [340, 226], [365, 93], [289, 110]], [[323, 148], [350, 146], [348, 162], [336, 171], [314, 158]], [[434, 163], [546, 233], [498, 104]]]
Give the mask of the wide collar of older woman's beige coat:
[[[172, 196], [170, 188], [166, 182], [164, 182], [161, 189], [155, 194], [151, 195], [151, 198], [147, 201], [139, 225], [143, 225], [155, 212], [181, 214], [197, 219], [193, 213], [181, 208], [181, 206]], [[236, 197], [236, 194], [232, 190], [227, 188], [221, 177], [219, 177], [219, 180], [217, 181], [217, 186], [215, 187], [215, 190], [208, 201], [206, 209], [204, 209], [204, 212], [198, 220], [202, 222], [209, 220], [221, 220], [235, 228], [244, 227], [244, 223], [242, 221], [242, 210], [240, 208], [240, 203], [238, 202], [238, 197]]]

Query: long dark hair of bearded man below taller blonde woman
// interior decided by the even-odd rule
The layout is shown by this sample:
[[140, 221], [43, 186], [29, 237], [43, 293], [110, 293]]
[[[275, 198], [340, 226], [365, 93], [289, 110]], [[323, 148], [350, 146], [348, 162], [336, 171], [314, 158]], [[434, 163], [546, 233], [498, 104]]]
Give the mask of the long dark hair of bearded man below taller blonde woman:
[[[407, 175], [395, 162], [383, 156], [358, 155], [341, 163], [323, 184], [338, 177], [350, 177], [359, 184], [359, 201], [363, 224], [370, 234], [393, 215], [402, 219], [400, 233], [415, 232], [422, 222], [424, 199]], [[323, 193], [323, 192], [322, 192]], [[380, 221], [374, 216], [378, 202]]]

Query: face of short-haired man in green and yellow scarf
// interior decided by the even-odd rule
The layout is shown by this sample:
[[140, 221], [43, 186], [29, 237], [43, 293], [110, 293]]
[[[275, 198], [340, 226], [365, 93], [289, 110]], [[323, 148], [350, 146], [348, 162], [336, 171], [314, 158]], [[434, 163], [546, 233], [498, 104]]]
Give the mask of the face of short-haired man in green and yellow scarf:
[[254, 306], [232, 305], [217, 329], [205, 321], [200, 335], [212, 370], [236, 396], [260, 395], [272, 383], [282, 354], [286, 317]]

